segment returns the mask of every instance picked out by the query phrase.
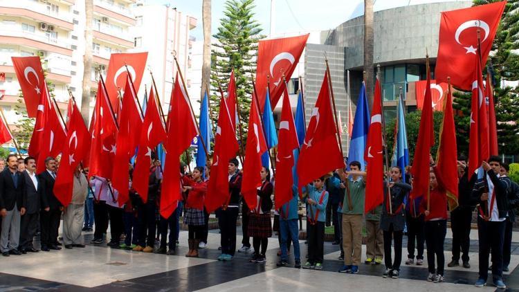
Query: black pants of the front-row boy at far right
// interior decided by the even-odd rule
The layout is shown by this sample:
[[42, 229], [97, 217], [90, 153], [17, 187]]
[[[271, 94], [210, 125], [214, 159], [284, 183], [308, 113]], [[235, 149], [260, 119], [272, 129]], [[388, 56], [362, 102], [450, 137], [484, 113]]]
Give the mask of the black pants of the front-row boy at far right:
[[480, 279], [489, 276], [489, 255], [492, 250], [492, 276], [503, 276], [503, 241], [505, 221], [484, 221], [477, 217], [477, 239], [480, 241]]

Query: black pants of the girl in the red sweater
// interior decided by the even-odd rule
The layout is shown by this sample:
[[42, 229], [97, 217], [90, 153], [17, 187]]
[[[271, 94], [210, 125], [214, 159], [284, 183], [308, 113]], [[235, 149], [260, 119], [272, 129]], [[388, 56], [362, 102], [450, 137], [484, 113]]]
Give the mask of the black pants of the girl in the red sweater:
[[[444, 275], [444, 242], [447, 233], [447, 220], [426, 221], [427, 264], [429, 273]], [[435, 269], [435, 256], [437, 267]]]

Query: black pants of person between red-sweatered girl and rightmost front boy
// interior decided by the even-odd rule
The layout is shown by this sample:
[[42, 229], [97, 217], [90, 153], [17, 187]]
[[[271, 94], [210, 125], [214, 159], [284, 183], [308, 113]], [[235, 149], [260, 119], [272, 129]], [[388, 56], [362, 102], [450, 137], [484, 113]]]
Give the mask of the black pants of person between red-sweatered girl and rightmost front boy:
[[468, 247], [471, 245], [471, 221], [473, 207], [462, 206], [450, 212], [450, 229], [453, 230], [453, 260], [468, 262]]

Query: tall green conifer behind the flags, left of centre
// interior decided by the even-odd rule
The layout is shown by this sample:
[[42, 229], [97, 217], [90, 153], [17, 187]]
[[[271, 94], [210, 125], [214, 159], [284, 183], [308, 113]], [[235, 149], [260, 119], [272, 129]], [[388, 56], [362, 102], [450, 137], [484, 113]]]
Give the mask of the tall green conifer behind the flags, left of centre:
[[[225, 4], [224, 17], [220, 19], [217, 39], [213, 44], [211, 62], [211, 86], [221, 86], [225, 92], [230, 72], [235, 71], [238, 113], [242, 125], [248, 123], [253, 86], [251, 80], [256, 69], [257, 42], [262, 39], [262, 28], [253, 19], [253, 0], [228, 0]], [[211, 96], [211, 107], [218, 112], [220, 94]], [[217, 115], [212, 117], [217, 119]], [[245, 127], [244, 127], [244, 130]], [[245, 139], [245, 137], [244, 137]]]

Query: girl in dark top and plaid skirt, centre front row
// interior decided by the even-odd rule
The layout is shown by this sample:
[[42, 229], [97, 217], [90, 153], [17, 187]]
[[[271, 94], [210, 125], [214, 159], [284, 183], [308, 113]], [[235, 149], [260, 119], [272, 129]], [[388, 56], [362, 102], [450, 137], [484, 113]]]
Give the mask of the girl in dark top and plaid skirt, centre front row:
[[272, 236], [271, 208], [273, 185], [266, 167], [260, 172], [262, 185], [257, 190], [257, 204], [248, 217], [248, 236], [253, 237], [254, 255], [249, 262], [266, 262], [268, 237]]

